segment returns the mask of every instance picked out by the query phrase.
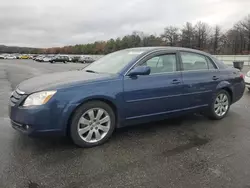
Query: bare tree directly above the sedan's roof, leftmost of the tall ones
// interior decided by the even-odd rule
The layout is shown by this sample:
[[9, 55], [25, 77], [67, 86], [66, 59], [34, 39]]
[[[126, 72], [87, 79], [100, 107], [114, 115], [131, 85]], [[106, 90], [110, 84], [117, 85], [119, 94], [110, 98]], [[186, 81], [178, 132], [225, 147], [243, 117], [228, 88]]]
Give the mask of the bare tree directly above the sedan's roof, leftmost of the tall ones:
[[161, 35], [163, 41], [170, 46], [176, 46], [179, 38], [179, 28], [169, 26], [164, 29], [164, 33]]

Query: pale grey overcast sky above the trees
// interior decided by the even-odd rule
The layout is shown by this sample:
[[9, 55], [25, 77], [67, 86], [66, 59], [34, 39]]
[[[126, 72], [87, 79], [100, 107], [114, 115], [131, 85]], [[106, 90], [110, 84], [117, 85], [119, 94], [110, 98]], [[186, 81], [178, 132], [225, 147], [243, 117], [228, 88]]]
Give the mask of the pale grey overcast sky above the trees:
[[250, 0], [0, 0], [0, 44], [83, 44], [198, 20], [226, 29], [249, 13]]

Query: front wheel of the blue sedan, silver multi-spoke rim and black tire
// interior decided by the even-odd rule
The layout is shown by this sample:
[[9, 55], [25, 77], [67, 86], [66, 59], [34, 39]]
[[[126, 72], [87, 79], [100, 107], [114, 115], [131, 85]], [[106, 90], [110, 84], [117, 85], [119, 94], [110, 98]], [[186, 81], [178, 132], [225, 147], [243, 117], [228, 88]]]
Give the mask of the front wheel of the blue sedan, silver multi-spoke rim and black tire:
[[[103, 114], [100, 116], [99, 120], [92, 121], [89, 113], [93, 111], [92, 117], [97, 117], [99, 110], [103, 111]], [[92, 118], [93, 119], [93, 118]], [[80, 123], [80, 120], [82, 123]], [[87, 121], [86, 121], [87, 120]], [[104, 122], [104, 120], [109, 120], [108, 122]], [[86, 124], [85, 124], [86, 122]], [[99, 126], [98, 126], [99, 124]], [[101, 127], [101, 129], [99, 129]], [[70, 123], [70, 136], [73, 142], [80, 147], [94, 147], [105, 143], [112, 135], [114, 129], [116, 127], [116, 118], [115, 113], [112, 108], [101, 101], [91, 101], [80, 106], [76, 112], [73, 114], [72, 121]], [[105, 129], [104, 129], [105, 128]], [[79, 129], [85, 129], [82, 134], [79, 133]], [[102, 131], [105, 130], [105, 131]], [[97, 138], [96, 133], [99, 132], [99, 136]], [[91, 135], [91, 136], [89, 136]], [[91, 139], [89, 139], [89, 138]]]

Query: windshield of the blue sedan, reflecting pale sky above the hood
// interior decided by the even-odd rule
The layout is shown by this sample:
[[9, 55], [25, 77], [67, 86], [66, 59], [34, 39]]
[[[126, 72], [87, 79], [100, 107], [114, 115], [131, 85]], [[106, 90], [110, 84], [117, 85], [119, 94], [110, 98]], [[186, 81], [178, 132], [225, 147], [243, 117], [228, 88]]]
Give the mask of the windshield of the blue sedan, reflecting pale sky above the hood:
[[97, 72], [97, 73], [110, 73], [117, 74], [131, 60], [142, 54], [143, 51], [139, 49], [121, 50], [111, 54], [108, 54], [101, 59], [93, 62], [87, 66], [84, 70]]

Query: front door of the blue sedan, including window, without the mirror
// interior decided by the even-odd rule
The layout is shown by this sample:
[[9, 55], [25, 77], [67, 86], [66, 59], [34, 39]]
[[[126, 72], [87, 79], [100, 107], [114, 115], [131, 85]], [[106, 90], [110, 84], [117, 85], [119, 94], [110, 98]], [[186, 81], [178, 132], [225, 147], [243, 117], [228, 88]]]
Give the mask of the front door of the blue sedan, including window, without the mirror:
[[125, 119], [166, 115], [182, 108], [183, 83], [176, 53], [158, 52], [136, 66], [149, 66], [150, 75], [124, 77]]

